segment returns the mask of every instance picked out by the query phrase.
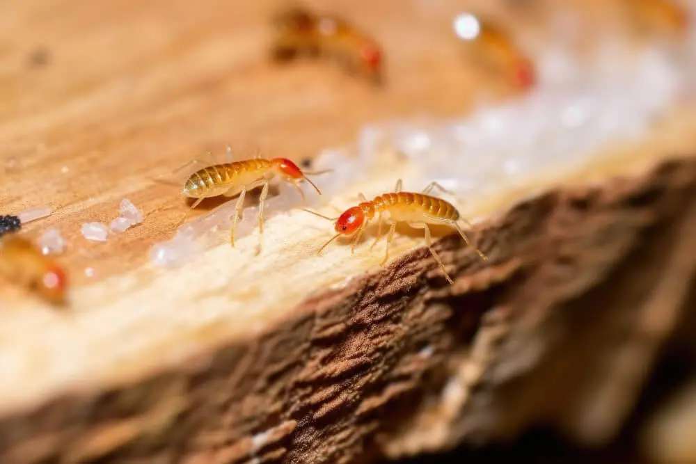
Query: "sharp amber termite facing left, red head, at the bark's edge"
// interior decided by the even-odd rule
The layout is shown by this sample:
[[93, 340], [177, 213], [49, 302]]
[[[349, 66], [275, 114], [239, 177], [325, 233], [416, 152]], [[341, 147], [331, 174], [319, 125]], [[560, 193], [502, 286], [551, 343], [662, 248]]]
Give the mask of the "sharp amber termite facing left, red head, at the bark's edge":
[[397, 223], [405, 222], [413, 228], [425, 230], [425, 246], [427, 246], [428, 250], [430, 250], [430, 253], [435, 258], [435, 261], [440, 266], [440, 269], [442, 269], [448, 282], [450, 282], [450, 284], [454, 283], [452, 278], [450, 278], [450, 275], [445, 270], [445, 265], [441, 261], [440, 257], [432, 248], [429, 225], [447, 225], [454, 228], [457, 230], [457, 232], [459, 232], [461, 238], [464, 239], [466, 244], [472, 247], [476, 253], [478, 253], [481, 259], [487, 261], [488, 258], [481, 250], [476, 248], [476, 246], [471, 243], [468, 237], [466, 237], [464, 230], [461, 230], [461, 227], [457, 221], [463, 221], [466, 223], [466, 225], [468, 225], [468, 227], [471, 227], [471, 224], [459, 214], [457, 208], [442, 198], [429, 195], [429, 193], [435, 188], [445, 193], [450, 193], [437, 182], [431, 182], [420, 193], [404, 192], [402, 191], [402, 180], [399, 179], [396, 183], [394, 193], [384, 193], [376, 196], [373, 200], [367, 200], [365, 195], [362, 193], [358, 194], [358, 198], [360, 198], [361, 203], [357, 206], [346, 209], [343, 214], [338, 216], [338, 218], [329, 218], [310, 209], [304, 209], [304, 211], [315, 214], [316, 216], [328, 219], [332, 222], [335, 221], [334, 230], [336, 234], [331, 237], [329, 241], [326, 241], [326, 243], [322, 245], [322, 248], [319, 248], [317, 254], [321, 254], [322, 250], [324, 250], [326, 246], [329, 246], [329, 243], [341, 236], [353, 237], [351, 243], [351, 253], [354, 253], [356, 243], [360, 241], [361, 236], [365, 231], [365, 227], [367, 227], [367, 225], [374, 220], [375, 215], [377, 215], [377, 236], [374, 238], [374, 242], [372, 243], [372, 246], [370, 246], [370, 250], [377, 245], [377, 242], [381, 237], [383, 220], [389, 224], [386, 251], [380, 266], [386, 263], [389, 259], [389, 245], [393, 240]]

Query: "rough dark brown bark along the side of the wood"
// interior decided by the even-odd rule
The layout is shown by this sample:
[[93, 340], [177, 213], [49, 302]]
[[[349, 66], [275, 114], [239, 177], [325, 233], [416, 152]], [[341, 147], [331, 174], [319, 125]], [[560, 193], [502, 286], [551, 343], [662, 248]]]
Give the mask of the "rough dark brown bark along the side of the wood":
[[488, 264], [436, 243], [451, 287], [414, 250], [257, 338], [3, 417], [0, 462], [357, 463], [539, 423], [610, 440], [694, 310], [696, 161], [551, 191], [477, 229]]

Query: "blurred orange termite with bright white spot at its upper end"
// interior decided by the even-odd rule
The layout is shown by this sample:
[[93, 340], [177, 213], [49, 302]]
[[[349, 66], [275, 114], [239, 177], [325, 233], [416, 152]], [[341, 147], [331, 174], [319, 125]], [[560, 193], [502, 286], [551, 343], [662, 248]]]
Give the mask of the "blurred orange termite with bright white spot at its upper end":
[[490, 22], [470, 13], [454, 18], [454, 33], [468, 45], [472, 58], [493, 72], [500, 72], [512, 86], [528, 90], [537, 81], [532, 61], [514, 40]]

